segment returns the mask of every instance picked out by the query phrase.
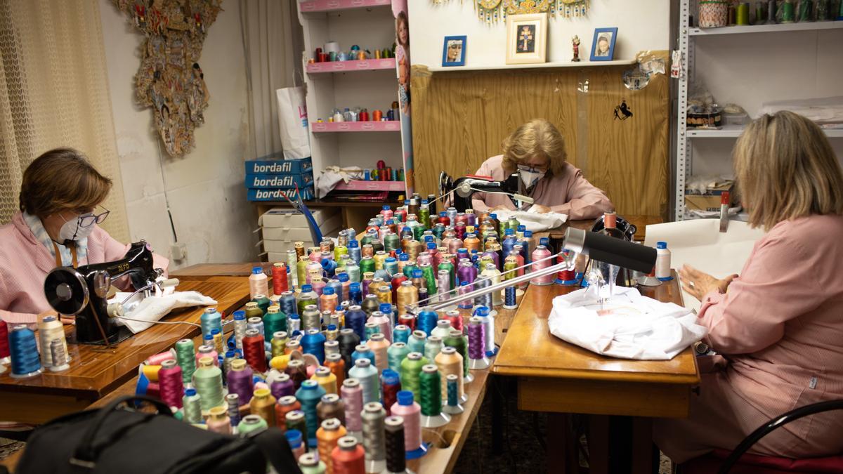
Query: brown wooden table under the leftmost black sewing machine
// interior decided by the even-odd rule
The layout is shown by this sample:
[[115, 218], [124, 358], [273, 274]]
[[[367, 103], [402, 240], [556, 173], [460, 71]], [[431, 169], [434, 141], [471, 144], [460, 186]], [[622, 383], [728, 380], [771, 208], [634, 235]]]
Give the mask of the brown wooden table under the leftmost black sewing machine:
[[[217, 299], [225, 313], [249, 299], [249, 283], [181, 283], [180, 291], [196, 290]], [[167, 320], [198, 323], [204, 308], [175, 310]], [[67, 328], [70, 331], [70, 328]], [[71, 344], [70, 369], [49, 370], [29, 379], [13, 379], [0, 374], [0, 419], [19, 423], [44, 423], [54, 417], [76, 412], [109, 394], [137, 374], [137, 366], [150, 355], [172, 347], [185, 337], [195, 337], [199, 328], [189, 325], [153, 325], [146, 331], [106, 349], [102, 346]]]

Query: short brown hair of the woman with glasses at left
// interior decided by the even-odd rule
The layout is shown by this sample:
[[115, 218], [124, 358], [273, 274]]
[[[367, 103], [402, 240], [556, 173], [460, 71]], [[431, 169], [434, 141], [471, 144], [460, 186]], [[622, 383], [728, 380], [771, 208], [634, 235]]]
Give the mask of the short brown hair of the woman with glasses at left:
[[56, 148], [24, 170], [20, 210], [39, 218], [62, 211], [89, 212], [105, 201], [110, 190], [111, 180], [100, 175], [83, 154]]

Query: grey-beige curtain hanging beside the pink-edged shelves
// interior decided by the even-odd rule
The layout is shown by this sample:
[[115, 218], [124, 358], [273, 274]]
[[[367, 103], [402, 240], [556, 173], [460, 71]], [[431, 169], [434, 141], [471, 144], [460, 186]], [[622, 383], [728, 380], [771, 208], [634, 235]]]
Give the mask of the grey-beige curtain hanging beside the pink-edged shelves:
[[249, 84], [251, 119], [250, 150], [247, 156], [282, 158], [275, 91], [303, 85], [302, 27], [295, 2], [241, 0], [240, 28], [243, 32], [246, 75]]

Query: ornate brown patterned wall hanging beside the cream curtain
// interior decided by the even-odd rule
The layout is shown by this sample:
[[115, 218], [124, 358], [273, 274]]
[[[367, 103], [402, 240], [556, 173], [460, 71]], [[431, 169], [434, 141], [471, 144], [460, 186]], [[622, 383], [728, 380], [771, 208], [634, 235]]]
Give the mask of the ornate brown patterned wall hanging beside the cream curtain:
[[153, 124], [167, 154], [181, 157], [196, 145], [210, 94], [199, 67], [207, 29], [222, 0], [111, 0], [144, 36], [135, 96], [153, 109]]

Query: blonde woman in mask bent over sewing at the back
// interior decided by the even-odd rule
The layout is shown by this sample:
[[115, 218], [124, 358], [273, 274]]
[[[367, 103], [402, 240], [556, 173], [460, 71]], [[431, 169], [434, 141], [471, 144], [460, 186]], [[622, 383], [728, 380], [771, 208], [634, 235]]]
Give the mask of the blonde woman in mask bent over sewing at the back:
[[[565, 161], [565, 139], [549, 121], [534, 119], [518, 127], [502, 143], [503, 154], [481, 164], [476, 175], [506, 180], [520, 175], [525, 194], [534, 199], [537, 210], [567, 214], [570, 219], [597, 218], [615, 207], [603, 191], [583, 173]], [[472, 197], [475, 211], [514, 210], [512, 200], [502, 194], [477, 192]]]

